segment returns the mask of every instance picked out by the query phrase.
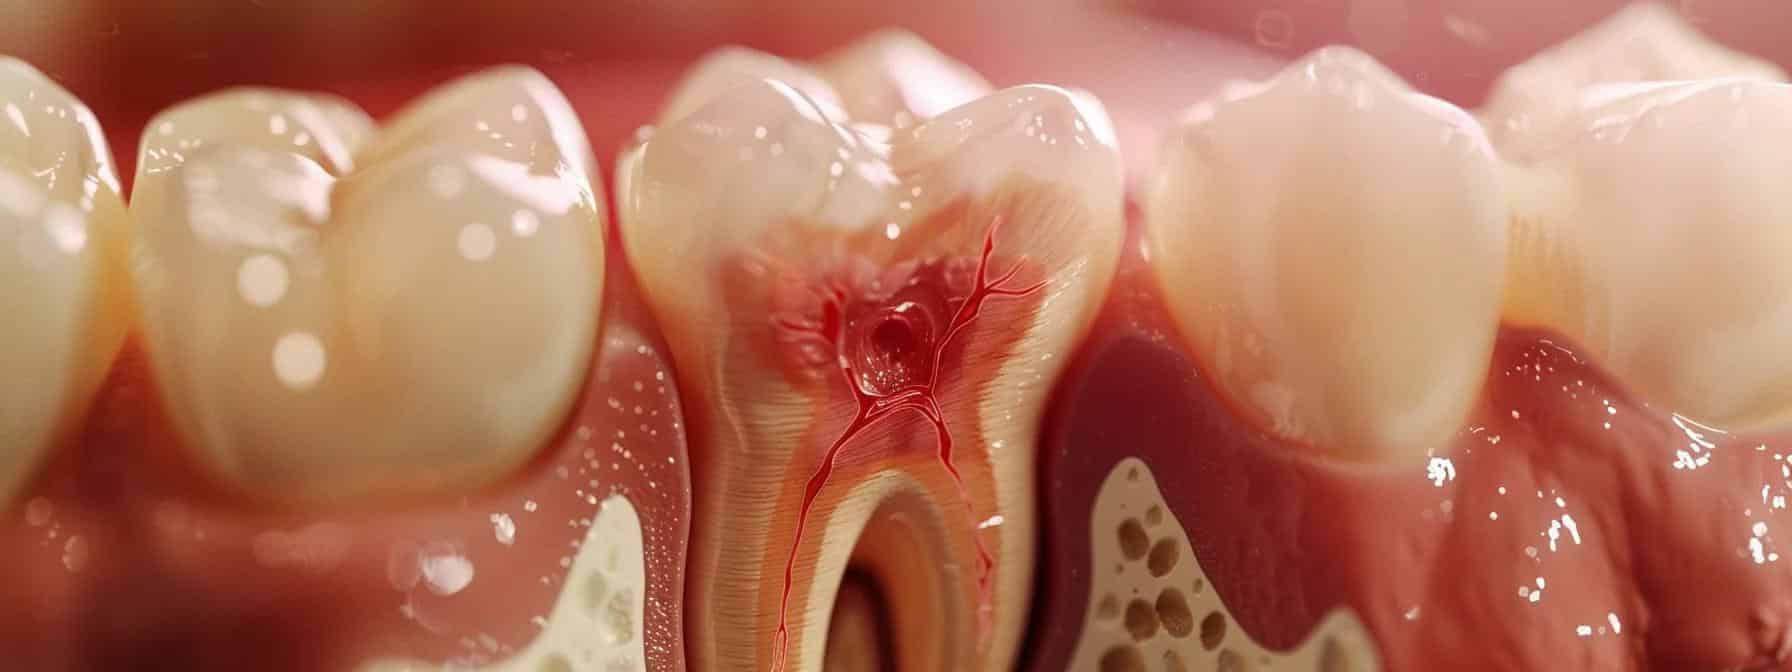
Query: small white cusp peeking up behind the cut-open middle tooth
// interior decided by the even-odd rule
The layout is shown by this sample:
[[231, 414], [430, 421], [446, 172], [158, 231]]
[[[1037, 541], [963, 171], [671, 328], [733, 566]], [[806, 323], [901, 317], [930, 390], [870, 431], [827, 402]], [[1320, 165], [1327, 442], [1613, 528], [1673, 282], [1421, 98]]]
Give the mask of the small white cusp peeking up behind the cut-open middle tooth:
[[860, 122], [909, 127], [989, 95], [989, 82], [907, 30], [878, 30], [821, 61], [846, 113]]

